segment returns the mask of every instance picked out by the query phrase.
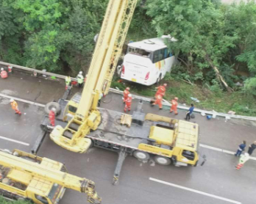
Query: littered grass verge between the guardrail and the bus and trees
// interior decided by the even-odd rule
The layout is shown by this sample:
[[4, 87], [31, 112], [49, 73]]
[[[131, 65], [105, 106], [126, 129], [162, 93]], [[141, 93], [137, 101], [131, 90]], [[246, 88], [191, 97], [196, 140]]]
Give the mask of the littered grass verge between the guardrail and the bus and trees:
[[[194, 106], [199, 109], [214, 110], [223, 113], [233, 111], [239, 115], [256, 116], [256, 103], [252, 95], [245, 95], [243, 92], [222, 92], [221, 89], [216, 87], [192, 86], [178, 79], [163, 79], [161, 84], [163, 83], [168, 84], [166, 95], [164, 96], [167, 101], [178, 97], [179, 103], [185, 103], [187, 106], [193, 103]], [[118, 79], [115, 78], [113, 79], [111, 87], [118, 87], [120, 90], [124, 90], [125, 87], [130, 87], [132, 93], [153, 98], [157, 85], [146, 87], [129, 81], [118, 82]], [[192, 101], [191, 97], [197, 98], [200, 102], [196, 103]]]

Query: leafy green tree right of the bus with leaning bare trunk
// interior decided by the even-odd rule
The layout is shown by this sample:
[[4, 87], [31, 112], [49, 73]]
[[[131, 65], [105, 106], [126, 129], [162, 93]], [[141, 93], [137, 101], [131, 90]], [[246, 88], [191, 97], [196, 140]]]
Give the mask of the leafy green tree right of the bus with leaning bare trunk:
[[178, 40], [168, 46], [174, 54], [181, 54], [180, 60], [190, 73], [211, 68], [230, 90], [219, 68], [237, 36], [224, 33], [224, 15], [217, 5], [202, 0], [149, 0], [147, 7], [157, 33], [171, 34]]

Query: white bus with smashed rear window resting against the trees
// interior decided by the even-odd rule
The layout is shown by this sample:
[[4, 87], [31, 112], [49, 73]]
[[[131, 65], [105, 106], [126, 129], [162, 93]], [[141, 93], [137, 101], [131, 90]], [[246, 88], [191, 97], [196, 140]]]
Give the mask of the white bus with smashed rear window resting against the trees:
[[[158, 83], [171, 71], [175, 57], [168, 51], [164, 39], [152, 38], [129, 43], [123, 65], [118, 69], [121, 79], [150, 86]], [[174, 37], [168, 37], [177, 41]]]

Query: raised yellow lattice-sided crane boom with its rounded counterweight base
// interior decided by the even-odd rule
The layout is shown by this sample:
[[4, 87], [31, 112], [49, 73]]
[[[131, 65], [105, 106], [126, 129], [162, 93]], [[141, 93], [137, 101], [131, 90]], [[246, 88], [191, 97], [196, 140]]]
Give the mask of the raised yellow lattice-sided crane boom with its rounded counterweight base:
[[90, 139], [84, 137], [101, 121], [99, 95], [109, 90], [137, 1], [109, 1], [77, 112], [65, 128], [57, 125], [50, 134], [57, 145], [79, 153], [90, 147]]

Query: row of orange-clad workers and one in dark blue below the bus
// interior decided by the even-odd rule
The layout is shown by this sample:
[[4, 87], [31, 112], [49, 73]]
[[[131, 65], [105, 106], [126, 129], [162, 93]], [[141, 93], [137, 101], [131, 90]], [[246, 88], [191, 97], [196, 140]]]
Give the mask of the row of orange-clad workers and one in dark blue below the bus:
[[[154, 105], [158, 105], [159, 109], [163, 109], [163, 96], [166, 94], [166, 87], [167, 84], [163, 84], [159, 87], [156, 87], [157, 92], [154, 95], [154, 100], [152, 100], [152, 106]], [[174, 114], [178, 114], [177, 111], [177, 106], [178, 106], [178, 100], [179, 98], [175, 97], [173, 100], [171, 100], [171, 109], [170, 109], [170, 113], [174, 112]], [[123, 97], [123, 102], [125, 103], [124, 106], [124, 112], [127, 112], [131, 110], [131, 106], [132, 106], [132, 95], [129, 92], [129, 87], [127, 87], [124, 90], [124, 97]], [[193, 103], [191, 104], [191, 108], [188, 109], [188, 112], [186, 112], [186, 117], [184, 118], [185, 120], [190, 120], [191, 119], [191, 114], [193, 112]]]

